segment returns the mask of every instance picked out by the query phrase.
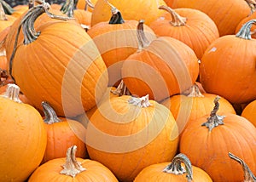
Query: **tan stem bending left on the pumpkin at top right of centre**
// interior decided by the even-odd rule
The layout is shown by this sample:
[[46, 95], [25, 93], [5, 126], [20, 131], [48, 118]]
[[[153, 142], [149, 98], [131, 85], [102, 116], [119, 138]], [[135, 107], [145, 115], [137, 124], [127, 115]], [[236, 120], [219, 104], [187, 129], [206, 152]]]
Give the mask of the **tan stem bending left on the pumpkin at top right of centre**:
[[187, 18], [184, 18], [177, 14], [173, 9], [171, 9], [168, 6], [161, 5], [158, 9], [166, 10], [168, 13], [172, 16], [172, 21], [170, 21], [170, 24], [172, 26], [184, 26], [186, 25]]

